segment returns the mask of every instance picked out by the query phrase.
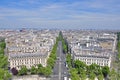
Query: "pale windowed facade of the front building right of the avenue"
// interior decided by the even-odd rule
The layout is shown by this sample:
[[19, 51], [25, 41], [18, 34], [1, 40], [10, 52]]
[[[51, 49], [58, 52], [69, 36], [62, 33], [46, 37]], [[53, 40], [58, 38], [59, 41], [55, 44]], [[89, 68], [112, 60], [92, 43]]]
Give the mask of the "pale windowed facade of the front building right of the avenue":
[[95, 55], [74, 55], [74, 60], [80, 60], [87, 65], [98, 64], [100, 66], [110, 67], [111, 57], [95, 56]]

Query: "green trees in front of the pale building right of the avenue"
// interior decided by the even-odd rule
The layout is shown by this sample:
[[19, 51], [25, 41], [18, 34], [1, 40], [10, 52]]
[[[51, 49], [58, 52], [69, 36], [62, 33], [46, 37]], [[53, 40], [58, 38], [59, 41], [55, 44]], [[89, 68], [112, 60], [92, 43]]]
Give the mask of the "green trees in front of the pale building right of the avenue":
[[94, 80], [95, 77], [97, 77], [98, 80], [103, 80], [103, 78], [106, 78], [110, 73], [110, 69], [108, 66], [101, 67], [97, 64], [91, 64], [87, 66], [82, 61], [73, 61], [70, 54], [67, 54], [66, 61], [70, 69], [72, 80], [86, 80], [86, 78]]

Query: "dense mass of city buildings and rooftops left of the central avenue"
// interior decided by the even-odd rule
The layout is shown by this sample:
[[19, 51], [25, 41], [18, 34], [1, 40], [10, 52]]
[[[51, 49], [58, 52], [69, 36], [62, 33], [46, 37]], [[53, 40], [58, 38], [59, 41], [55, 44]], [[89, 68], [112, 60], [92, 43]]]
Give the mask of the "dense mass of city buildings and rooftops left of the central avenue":
[[20, 69], [22, 65], [31, 68], [37, 64], [45, 67], [58, 33], [51, 30], [1, 31], [0, 35], [6, 38], [10, 68]]

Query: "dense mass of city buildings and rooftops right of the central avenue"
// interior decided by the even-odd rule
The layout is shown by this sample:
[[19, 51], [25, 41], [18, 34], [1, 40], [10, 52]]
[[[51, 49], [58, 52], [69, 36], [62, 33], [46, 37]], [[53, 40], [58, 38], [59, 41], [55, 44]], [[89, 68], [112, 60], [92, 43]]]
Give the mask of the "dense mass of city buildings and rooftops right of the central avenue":
[[96, 31], [63, 31], [63, 36], [74, 60], [81, 60], [87, 65], [96, 63], [110, 67], [111, 54], [114, 53], [116, 47], [116, 34]]

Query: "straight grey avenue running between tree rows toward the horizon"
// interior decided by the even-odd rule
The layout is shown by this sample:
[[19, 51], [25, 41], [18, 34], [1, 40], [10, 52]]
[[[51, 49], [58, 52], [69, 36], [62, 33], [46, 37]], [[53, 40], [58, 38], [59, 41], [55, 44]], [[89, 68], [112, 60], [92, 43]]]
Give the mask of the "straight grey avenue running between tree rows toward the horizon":
[[64, 77], [68, 76], [68, 69], [65, 66], [66, 57], [62, 49], [62, 42], [59, 41], [57, 47], [57, 60], [53, 68], [51, 80], [64, 80]]

